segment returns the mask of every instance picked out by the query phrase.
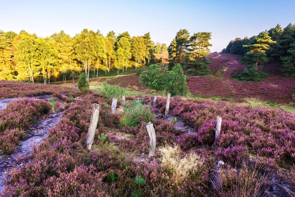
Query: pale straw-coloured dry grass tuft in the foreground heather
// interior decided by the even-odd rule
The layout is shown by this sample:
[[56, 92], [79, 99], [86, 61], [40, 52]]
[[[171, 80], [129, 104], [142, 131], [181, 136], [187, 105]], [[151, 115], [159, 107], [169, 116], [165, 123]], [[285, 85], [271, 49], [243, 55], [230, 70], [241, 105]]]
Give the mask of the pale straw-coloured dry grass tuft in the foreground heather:
[[191, 154], [180, 158], [178, 146], [165, 146], [159, 151], [162, 156], [163, 170], [166, 173], [165, 179], [171, 179], [172, 184], [177, 186], [184, 181], [201, 179], [204, 160], [199, 155]]

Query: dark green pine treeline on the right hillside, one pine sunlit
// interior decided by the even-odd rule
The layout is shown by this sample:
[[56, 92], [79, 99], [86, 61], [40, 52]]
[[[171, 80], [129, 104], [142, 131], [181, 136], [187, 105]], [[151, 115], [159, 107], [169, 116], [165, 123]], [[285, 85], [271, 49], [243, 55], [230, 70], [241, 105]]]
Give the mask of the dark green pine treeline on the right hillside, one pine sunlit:
[[[255, 64], [253, 67], [256, 70], [248, 66], [249, 76], [253, 72], [255, 72], [254, 74], [259, 72], [259, 68], [263, 66], [263, 63], [269, 60], [282, 63], [281, 74], [283, 76], [295, 76], [295, 24], [292, 25], [290, 23], [285, 28], [278, 24], [276, 27], [260, 33], [258, 36], [246, 37], [244, 39], [236, 38], [230, 41], [227, 47], [222, 50], [222, 53], [243, 55], [242, 63], [248, 63], [248, 65]], [[262, 74], [261, 72], [259, 73], [260, 75]], [[267, 75], [264, 74], [264, 76]], [[246, 76], [244, 79], [250, 78]], [[257, 79], [261, 80], [261, 78], [263, 78], [263, 75]]]

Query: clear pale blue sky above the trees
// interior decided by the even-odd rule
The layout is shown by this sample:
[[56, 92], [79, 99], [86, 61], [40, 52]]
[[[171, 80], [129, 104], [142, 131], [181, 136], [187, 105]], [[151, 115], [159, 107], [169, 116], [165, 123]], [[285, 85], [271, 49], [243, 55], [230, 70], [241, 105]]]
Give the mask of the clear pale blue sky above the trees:
[[221, 51], [236, 37], [257, 35], [295, 23], [295, 0], [281, 1], [32, 1], [0, 0], [0, 29], [26, 30], [39, 37], [64, 30], [74, 36], [84, 28], [106, 35], [150, 32], [154, 42], [169, 45], [179, 29], [212, 32], [211, 51]]

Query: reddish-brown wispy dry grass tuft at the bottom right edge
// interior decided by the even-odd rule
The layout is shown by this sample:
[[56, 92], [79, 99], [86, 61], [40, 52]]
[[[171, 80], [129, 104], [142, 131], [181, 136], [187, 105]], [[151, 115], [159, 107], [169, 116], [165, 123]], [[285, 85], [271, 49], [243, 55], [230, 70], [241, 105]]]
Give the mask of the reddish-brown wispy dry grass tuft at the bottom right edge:
[[235, 169], [221, 169], [217, 173], [220, 184], [212, 180], [215, 195], [220, 197], [266, 196], [266, 188], [264, 188], [266, 176], [260, 175], [255, 167], [249, 168], [243, 163], [238, 171]]

